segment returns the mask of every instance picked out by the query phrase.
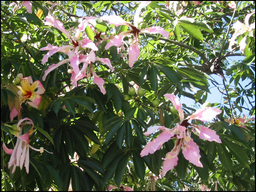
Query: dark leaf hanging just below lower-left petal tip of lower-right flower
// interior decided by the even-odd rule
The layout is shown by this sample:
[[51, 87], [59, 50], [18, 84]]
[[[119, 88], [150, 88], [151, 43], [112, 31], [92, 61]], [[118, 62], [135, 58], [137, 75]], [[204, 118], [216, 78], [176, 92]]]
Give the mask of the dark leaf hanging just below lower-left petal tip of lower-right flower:
[[136, 175], [144, 181], [145, 178], [145, 164], [143, 158], [140, 157], [140, 154], [137, 151], [133, 151], [133, 162]]

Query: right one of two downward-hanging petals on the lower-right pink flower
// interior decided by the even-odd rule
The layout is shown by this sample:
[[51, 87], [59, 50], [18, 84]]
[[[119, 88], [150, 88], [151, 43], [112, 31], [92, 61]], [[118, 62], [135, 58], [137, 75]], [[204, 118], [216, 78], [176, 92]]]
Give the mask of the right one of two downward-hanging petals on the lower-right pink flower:
[[190, 163], [193, 163], [197, 167], [203, 167], [202, 163], [200, 162], [200, 150], [199, 147], [195, 144], [195, 142], [191, 139], [189, 142], [183, 141], [184, 144], [182, 145], [182, 153]]

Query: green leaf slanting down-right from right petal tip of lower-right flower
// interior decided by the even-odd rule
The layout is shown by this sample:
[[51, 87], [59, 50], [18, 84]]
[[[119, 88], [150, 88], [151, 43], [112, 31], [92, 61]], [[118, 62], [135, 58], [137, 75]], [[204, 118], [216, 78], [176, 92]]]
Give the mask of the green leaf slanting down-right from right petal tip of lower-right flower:
[[250, 166], [248, 164], [249, 158], [244, 149], [239, 145], [230, 142], [229, 140], [223, 140], [223, 142], [226, 143], [226, 146], [228, 147], [232, 155], [238, 160], [238, 163], [241, 163], [243, 167], [250, 169]]

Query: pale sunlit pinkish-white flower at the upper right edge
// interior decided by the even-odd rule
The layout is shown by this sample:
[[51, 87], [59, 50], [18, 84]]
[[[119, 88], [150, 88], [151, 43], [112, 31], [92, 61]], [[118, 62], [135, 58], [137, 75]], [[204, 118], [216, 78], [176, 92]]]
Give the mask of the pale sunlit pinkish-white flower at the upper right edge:
[[[233, 24], [232, 28], [235, 29], [235, 33], [232, 35], [229, 43], [228, 49], [232, 52], [232, 46], [236, 43], [236, 38], [239, 35], [244, 34], [247, 31], [251, 31], [252, 29], [255, 29], [255, 22], [249, 24], [249, 18], [251, 15], [255, 14], [255, 12], [249, 13], [244, 17], [244, 23], [241, 23], [240, 21], [237, 21]], [[240, 51], [244, 53], [244, 48], [246, 47], [246, 36], [239, 42]]]

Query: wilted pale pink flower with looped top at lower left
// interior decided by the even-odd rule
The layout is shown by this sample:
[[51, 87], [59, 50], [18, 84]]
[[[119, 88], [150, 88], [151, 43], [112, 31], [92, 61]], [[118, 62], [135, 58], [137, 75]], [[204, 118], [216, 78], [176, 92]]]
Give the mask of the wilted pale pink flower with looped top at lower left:
[[[25, 122], [24, 124], [31, 124], [32, 128], [27, 133], [21, 135], [22, 127], [24, 126], [24, 124], [22, 125], [21, 123], [24, 122], [25, 120], [28, 120], [29, 122]], [[8, 168], [10, 169], [13, 165], [12, 174], [15, 172], [16, 167], [19, 166], [20, 169], [22, 169], [23, 165], [26, 169], [26, 172], [29, 173], [29, 147], [35, 151], [40, 151], [40, 153], [43, 153], [43, 151], [46, 151], [46, 150], [43, 149], [43, 147], [40, 147], [40, 149], [36, 149], [36, 148], [32, 147], [31, 145], [29, 145], [29, 135], [31, 132], [33, 132], [33, 128], [34, 128], [34, 123], [32, 122], [31, 119], [24, 118], [24, 119], [19, 120], [17, 127], [21, 127], [21, 128], [20, 128], [17, 142], [16, 142], [14, 149], [8, 149], [5, 145], [5, 143], [3, 143], [2, 146], [3, 146], [4, 151], [7, 154], [11, 155], [10, 161], [8, 163]]]

